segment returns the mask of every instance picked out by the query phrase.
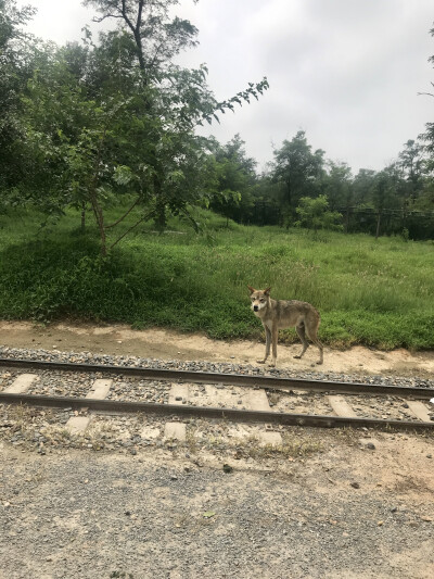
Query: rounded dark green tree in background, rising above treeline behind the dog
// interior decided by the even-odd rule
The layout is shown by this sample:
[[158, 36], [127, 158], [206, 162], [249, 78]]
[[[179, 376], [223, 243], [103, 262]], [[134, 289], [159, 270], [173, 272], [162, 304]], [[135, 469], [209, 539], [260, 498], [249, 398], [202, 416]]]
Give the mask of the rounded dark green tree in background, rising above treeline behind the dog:
[[292, 219], [302, 197], [316, 197], [320, 192], [324, 151], [318, 149], [312, 153], [305, 131], [299, 130], [291, 141], [284, 140], [273, 154], [272, 179], [281, 186], [282, 201]]

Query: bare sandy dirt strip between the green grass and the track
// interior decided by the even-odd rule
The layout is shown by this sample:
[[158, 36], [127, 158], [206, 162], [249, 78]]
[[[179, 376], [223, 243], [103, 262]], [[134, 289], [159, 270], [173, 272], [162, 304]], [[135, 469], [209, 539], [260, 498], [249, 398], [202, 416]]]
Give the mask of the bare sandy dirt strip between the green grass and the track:
[[[108, 355], [136, 355], [162, 360], [206, 360], [255, 364], [264, 356], [264, 344], [258, 341], [210, 340], [204, 335], [179, 333], [150, 328], [132, 330], [125, 325], [95, 326], [90, 324], [53, 324], [38, 326], [30, 323], [0, 322], [0, 344], [11, 348], [58, 349], [61, 351], [102, 352]], [[278, 364], [281, 368], [311, 369], [343, 374], [434, 374], [434, 352], [411, 353], [399, 349], [382, 352], [356, 347], [340, 351], [326, 348], [324, 364], [315, 365], [317, 351], [311, 348], [303, 360], [294, 360], [299, 345], [279, 345]]]

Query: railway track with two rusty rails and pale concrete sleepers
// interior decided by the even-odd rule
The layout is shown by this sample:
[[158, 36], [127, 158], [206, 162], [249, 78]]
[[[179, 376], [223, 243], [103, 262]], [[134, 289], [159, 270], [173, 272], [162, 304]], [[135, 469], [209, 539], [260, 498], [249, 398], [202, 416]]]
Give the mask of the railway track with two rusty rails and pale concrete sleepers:
[[[91, 413], [145, 413], [170, 420], [175, 418], [178, 419], [178, 424], [187, 417], [200, 417], [268, 426], [434, 430], [434, 420], [431, 419], [434, 417], [432, 412], [434, 406], [430, 403], [430, 400], [434, 399], [434, 388], [16, 358], [0, 358], [0, 368], [17, 370], [14, 381], [0, 391], [1, 404], [78, 411], [86, 416], [77, 416], [75, 426], [74, 417], [71, 418], [69, 425], [77, 431], [89, 425]], [[39, 374], [29, 374], [29, 370]], [[18, 374], [20, 372], [23, 374]], [[98, 378], [90, 385], [86, 394], [85, 392], [81, 395], [38, 393], [40, 376], [52, 373], [60, 375], [75, 373]], [[114, 385], [116, 386], [116, 379], [125, 380], [126, 377], [151, 385], [155, 380], [158, 385], [166, 385], [163, 386], [164, 401], [156, 403], [125, 400], [125, 398], [119, 400]], [[152, 386], [149, 388], [152, 389]], [[135, 393], [136, 390], [132, 382], [130, 392]], [[304, 407], [314, 406], [319, 412], [315, 414], [286, 412], [288, 407], [297, 410], [301, 397]], [[239, 399], [237, 402], [243, 405], [242, 408], [233, 407], [235, 399]], [[276, 410], [272, 410], [272, 406]], [[324, 414], [321, 410], [326, 411]], [[168, 424], [174, 425], [174, 423]], [[170, 429], [168, 430], [170, 432]], [[179, 435], [179, 428], [173, 429], [176, 435], [174, 438], [178, 436], [177, 430]], [[276, 437], [273, 440], [276, 442]]]

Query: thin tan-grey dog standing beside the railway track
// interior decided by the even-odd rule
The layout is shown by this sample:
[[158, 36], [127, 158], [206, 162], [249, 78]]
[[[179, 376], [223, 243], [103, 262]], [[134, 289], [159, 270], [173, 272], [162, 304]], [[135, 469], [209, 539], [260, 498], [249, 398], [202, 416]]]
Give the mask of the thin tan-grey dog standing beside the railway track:
[[272, 343], [272, 364], [276, 366], [278, 357], [278, 330], [279, 328], [295, 327], [303, 343], [302, 353], [296, 358], [302, 358], [309, 348], [306, 336], [318, 347], [320, 357], [317, 364], [322, 364], [322, 343], [318, 340], [317, 333], [321, 322], [319, 312], [307, 302], [298, 300], [272, 300], [270, 298], [271, 288], [256, 290], [247, 286], [251, 292], [252, 310], [256, 317], [260, 319], [265, 329], [265, 357], [258, 360], [258, 364], [265, 364], [270, 355], [270, 344]]

